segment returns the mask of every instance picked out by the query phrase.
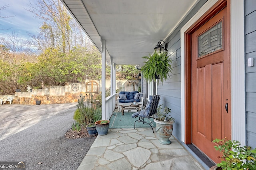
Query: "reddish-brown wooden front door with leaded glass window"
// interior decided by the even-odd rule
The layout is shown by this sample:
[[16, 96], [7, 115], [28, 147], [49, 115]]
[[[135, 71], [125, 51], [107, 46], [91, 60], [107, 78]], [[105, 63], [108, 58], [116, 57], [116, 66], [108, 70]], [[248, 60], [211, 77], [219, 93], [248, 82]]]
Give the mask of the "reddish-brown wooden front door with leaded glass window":
[[192, 144], [220, 162], [212, 141], [230, 139], [227, 7], [191, 35]]

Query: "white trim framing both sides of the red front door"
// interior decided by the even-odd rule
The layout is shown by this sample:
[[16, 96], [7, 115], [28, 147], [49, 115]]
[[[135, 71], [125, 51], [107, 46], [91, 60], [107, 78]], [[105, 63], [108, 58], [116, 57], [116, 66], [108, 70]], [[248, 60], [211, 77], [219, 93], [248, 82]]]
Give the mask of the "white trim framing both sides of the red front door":
[[[184, 33], [218, 0], [208, 0], [180, 30], [181, 42], [181, 140], [185, 141], [185, 42]], [[246, 144], [245, 66], [244, 66], [244, 1], [231, 0], [231, 137]], [[241, 90], [242, 89], [242, 90]], [[234, 126], [233, 126], [234, 125]]]

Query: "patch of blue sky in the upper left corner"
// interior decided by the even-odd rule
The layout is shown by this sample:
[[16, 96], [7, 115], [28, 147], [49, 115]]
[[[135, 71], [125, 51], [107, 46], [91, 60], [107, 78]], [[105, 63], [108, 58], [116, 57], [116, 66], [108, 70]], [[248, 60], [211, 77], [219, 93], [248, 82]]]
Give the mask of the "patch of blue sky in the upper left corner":
[[0, 10], [0, 16], [14, 16], [10, 18], [0, 18], [0, 37], [6, 38], [6, 34], [12, 35], [13, 31], [22, 39], [28, 37], [27, 32], [36, 34], [42, 20], [34, 18], [34, 14], [26, 10], [29, 9], [28, 5], [30, 2], [34, 4], [36, 0], [0, 0], [0, 7], [4, 5], [9, 6], [4, 8], [4, 10]]

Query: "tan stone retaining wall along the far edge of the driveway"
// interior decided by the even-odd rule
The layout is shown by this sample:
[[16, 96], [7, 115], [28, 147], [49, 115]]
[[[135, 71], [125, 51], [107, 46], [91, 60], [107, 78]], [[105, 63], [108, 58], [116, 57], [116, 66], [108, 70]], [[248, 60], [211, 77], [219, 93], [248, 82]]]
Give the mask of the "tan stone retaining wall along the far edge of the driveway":
[[[96, 99], [101, 92], [101, 80], [87, 80], [83, 83], [65, 83], [65, 86], [45, 86], [44, 89], [32, 89], [28, 92], [15, 92], [12, 96], [13, 104], [23, 105], [36, 105], [37, 100], [41, 100], [41, 104], [63, 104], [63, 103], [74, 103], [80, 99], [80, 94], [85, 96], [86, 94], [86, 83], [96, 82], [98, 84], [98, 92], [91, 93], [93, 98]], [[106, 80], [106, 84], [110, 86], [110, 80]], [[118, 80], [116, 86], [121, 87], [122, 91], [134, 91], [138, 89], [140, 84], [139, 80]], [[108, 90], [109, 86], [106, 86]], [[3, 98], [5, 96], [0, 96]], [[8, 103], [8, 102], [7, 102]]]

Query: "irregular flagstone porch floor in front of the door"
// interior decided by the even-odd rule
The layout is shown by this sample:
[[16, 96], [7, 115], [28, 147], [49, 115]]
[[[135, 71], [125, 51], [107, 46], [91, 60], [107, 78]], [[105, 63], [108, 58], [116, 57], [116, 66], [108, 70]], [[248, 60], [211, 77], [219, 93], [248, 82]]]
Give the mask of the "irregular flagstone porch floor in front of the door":
[[98, 135], [78, 170], [204, 170], [174, 137], [170, 140], [160, 144], [151, 128], [109, 129]]

